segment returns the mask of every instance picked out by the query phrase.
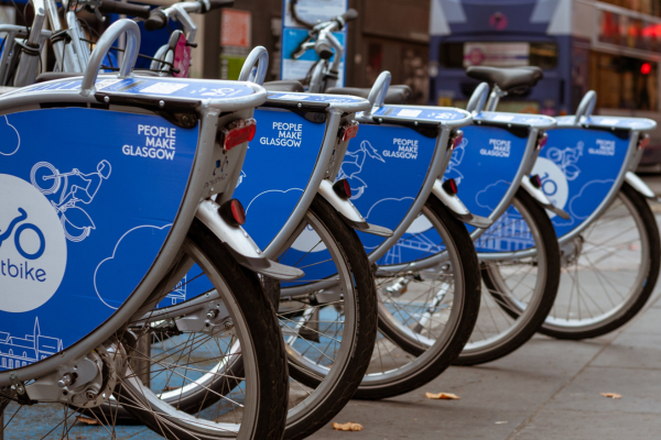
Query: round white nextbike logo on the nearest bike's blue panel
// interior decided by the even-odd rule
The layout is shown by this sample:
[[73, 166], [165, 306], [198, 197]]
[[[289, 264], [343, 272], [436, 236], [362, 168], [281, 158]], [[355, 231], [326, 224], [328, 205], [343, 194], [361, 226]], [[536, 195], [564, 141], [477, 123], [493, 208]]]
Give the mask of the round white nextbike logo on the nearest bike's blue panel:
[[64, 278], [64, 230], [51, 202], [25, 180], [0, 174], [0, 310], [33, 310]]

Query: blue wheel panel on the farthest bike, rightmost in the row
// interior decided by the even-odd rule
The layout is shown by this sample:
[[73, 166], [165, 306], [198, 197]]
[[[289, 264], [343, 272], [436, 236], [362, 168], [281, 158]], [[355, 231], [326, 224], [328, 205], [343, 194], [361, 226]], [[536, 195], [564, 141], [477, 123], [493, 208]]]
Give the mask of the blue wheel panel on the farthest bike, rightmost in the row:
[[553, 205], [571, 219], [548, 212], [557, 237], [583, 223], [610, 193], [627, 158], [629, 139], [606, 130], [555, 129], [540, 152], [532, 174]]

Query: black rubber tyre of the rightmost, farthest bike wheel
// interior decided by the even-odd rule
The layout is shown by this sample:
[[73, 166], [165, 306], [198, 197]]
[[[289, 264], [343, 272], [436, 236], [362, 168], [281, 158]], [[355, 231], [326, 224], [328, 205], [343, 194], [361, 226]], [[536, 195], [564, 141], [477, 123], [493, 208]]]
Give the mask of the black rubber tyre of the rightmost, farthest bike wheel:
[[[600, 320], [581, 326], [579, 323], [570, 324], [570, 320], [567, 319], [567, 323], [563, 324], [562, 320], [551, 320], [550, 317], [540, 329], [541, 333], [556, 339], [568, 340], [597, 338], [607, 334], [629, 322], [642, 309], [652, 295], [661, 267], [661, 245], [657, 220], [646, 198], [631, 185], [627, 183], [622, 185], [618, 194], [618, 199], [630, 210], [633, 221], [637, 223], [636, 227], [641, 233], [641, 249], [647, 248], [649, 250], [648, 255], [641, 255], [641, 263], [647, 265], [647, 268], [640, 268], [638, 279], [631, 286], [635, 292], [628, 295], [622, 304], [616, 305], [613, 310], [604, 314]], [[604, 218], [610, 209], [614, 209], [613, 205], [615, 205], [616, 200], [599, 219]], [[594, 223], [597, 223], [599, 219], [595, 219]], [[589, 232], [589, 227], [585, 232]], [[618, 233], [621, 232], [618, 231]], [[621, 253], [622, 251], [619, 250], [619, 252]], [[576, 260], [576, 263], [578, 265], [578, 260]], [[570, 276], [568, 272], [570, 270], [564, 268], [563, 275], [565, 277]], [[605, 286], [603, 288], [606, 289]]]

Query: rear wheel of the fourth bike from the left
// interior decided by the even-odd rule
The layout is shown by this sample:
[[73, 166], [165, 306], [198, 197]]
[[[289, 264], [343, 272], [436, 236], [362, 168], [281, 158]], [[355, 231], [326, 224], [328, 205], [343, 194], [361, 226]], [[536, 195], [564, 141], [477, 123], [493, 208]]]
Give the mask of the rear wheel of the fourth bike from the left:
[[[494, 253], [481, 254], [481, 306], [470, 340], [456, 361], [459, 365], [495, 361], [523, 345], [549, 315], [560, 282], [560, 248], [553, 224], [522, 188], [476, 248]], [[533, 255], [505, 257], [507, 252], [532, 248]]]

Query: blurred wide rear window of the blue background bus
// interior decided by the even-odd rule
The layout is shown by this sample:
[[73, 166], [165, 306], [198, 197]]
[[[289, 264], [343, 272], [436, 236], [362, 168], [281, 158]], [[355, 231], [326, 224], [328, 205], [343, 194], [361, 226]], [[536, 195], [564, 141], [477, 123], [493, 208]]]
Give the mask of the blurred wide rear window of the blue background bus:
[[550, 70], [557, 65], [557, 45], [539, 42], [447, 42], [438, 47], [438, 64], [446, 68], [539, 66]]

